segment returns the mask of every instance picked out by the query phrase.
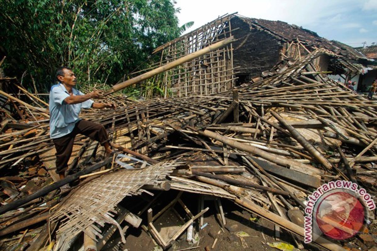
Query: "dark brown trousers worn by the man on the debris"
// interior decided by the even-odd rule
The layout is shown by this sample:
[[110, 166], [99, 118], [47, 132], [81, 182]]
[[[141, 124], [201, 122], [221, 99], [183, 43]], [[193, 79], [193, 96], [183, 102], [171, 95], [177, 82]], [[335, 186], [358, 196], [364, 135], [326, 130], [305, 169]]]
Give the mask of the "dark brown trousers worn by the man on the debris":
[[67, 170], [77, 134], [83, 134], [93, 140], [97, 140], [101, 145], [108, 141], [106, 129], [102, 125], [87, 120], [80, 120], [76, 123], [72, 132], [63, 137], [52, 139], [56, 149], [56, 172], [58, 174], [64, 174]]

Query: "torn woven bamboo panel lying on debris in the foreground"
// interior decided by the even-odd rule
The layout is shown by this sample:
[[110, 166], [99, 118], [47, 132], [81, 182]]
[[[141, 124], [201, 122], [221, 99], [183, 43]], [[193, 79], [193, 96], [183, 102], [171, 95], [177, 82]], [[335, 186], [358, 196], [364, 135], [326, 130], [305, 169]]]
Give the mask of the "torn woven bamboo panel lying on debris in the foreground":
[[139, 195], [146, 184], [156, 184], [165, 180], [181, 163], [171, 161], [155, 164], [141, 170], [119, 170], [103, 175], [80, 187], [52, 213], [51, 222], [60, 221], [57, 231], [63, 243], [61, 250], [69, 246], [73, 236], [84, 231], [93, 239], [101, 236], [101, 230], [93, 225], [115, 223], [115, 206], [126, 196]]

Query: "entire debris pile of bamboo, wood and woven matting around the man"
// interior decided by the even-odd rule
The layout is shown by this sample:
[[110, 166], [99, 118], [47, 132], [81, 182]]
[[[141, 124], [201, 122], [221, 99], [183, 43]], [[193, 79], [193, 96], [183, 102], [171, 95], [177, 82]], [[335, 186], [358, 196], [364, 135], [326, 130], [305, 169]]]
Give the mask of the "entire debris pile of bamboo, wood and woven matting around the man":
[[[1, 248], [154, 246], [132, 246], [136, 229], [156, 243], [154, 250], [368, 250], [377, 234], [374, 211], [366, 214], [370, 224], [359, 229], [360, 237], [302, 242], [308, 196], [319, 186], [352, 181], [372, 195], [370, 206], [377, 185], [377, 103], [313, 70], [321, 55], [336, 56], [318, 49], [265, 79], [211, 96], [143, 102], [111, 96], [115, 111], [81, 116], [107, 128], [117, 154], [105, 158], [97, 142], [77, 137], [71, 175], [61, 181], [46, 104], [36, 100], [38, 108], [2, 93], [26, 117], [14, 122], [7, 105], [2, 108], [9, 118], [0, 136]], [[67, 183], [73, 188], [63, 196], [59, 187]], [[231, 207], [246, 210], [239, 224], [229, 224]], [[208, 213], [218, 221], [205, 222]], [[251, 227], [240, 229], [246, 215]], [[261, 231], [262, 243], [252, 240], [256, 221], [273, 224], [269, 241]], [[292, 245], [271, 242], [273, 235]]]

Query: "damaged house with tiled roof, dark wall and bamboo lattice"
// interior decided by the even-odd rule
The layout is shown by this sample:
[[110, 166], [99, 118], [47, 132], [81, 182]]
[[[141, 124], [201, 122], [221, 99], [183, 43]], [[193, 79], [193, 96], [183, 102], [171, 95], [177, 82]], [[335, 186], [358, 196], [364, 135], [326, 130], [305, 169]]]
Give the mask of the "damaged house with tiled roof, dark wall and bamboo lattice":
[[[234, 85], [251, 82], [253, 78], [285, 70], [287, 65], [281, 64], [281, 68], [271, 71], [279, 62], [287, 61], [291, 65], [321, 48], [334, 52], [338, 57], [320, 55], [313, 62], [313, 71], [339, 75], [342, 82], [346, 82], [362, 71], [363, 66], [355, 62], [365, 59], [353, 48], [345, 49], [299, 26], [230, 14], [158, 47], [153, 53], [160, 56], [160, 62], [146, 70], [165, 65], [231, 36], [236, 41], [155, 76], [146, 81], [145, 88], [149, 88], [148, 83], [157, 82], [163, 97], [220, 93]], [[146, 96], [147, 99], [150, 97]]]

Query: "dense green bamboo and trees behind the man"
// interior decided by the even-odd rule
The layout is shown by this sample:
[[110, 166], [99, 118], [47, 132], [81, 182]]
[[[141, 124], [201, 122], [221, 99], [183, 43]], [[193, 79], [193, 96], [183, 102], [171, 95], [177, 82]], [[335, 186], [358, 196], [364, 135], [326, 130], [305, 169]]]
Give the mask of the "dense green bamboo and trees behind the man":
[[5, 73], [39, 92], [60, 65], [80, 83], [113, 84], [182, 32], [170, 0], [2, 0], [0, 9]]

